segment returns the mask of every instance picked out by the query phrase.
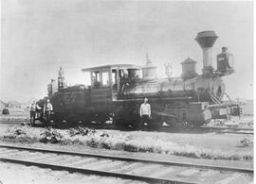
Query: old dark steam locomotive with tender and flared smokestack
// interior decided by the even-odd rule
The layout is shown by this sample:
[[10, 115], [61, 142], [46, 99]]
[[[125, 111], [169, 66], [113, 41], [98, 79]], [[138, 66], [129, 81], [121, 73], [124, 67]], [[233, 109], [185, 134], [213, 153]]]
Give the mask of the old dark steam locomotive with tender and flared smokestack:
[[222, 77], [234, 73], [233, 56], [227, 47], [217, 55], [217, 69], [212, 67], [211, 50], [217, 38], [214, 31], [199, 32], [195, 38], [203, 50], [200, 75], [195, 70], [196, 61], [188, 58], [181, 62], [180, 77], [157, 78], [156, 67], [147, 57], [143, 67], [116, 64], [82, 69], [90, 75], [90, 86], [64, 87], [62, 78], [58, 84], [52, 80], [47, 97], [54, 109], [52, 120], [57, 125], [112, 120], [114, 125], [137, 127], [145, 97], [152, 107], [152, 125], [198, 126], [212, 118], [227, 118], [232, 112], [239, 114], [239, 107], [231, 100], [222, 101], [228, 96]]

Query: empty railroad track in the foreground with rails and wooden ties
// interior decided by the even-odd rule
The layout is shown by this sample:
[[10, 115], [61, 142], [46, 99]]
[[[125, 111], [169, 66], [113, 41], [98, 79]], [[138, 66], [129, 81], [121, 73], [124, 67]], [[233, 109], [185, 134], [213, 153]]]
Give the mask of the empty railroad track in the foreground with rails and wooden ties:
[[249, 183], [253, 180], [253, 169], [248, 168], [132, 159], [10, 145], [0, 145], [0, 160], [70, 173], [115, 176], [149, 183]]

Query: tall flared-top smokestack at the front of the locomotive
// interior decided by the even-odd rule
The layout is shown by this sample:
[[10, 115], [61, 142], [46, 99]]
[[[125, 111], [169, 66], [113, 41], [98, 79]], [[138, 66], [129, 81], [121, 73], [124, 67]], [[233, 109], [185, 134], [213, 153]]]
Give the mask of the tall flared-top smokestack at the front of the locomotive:
[[214, 31], [199, 32], [195, 38], [195, 41], [198, 42], [203, 50], [203, 74], [212, 72], [212, 46], [217, 38], [218, 36]]

